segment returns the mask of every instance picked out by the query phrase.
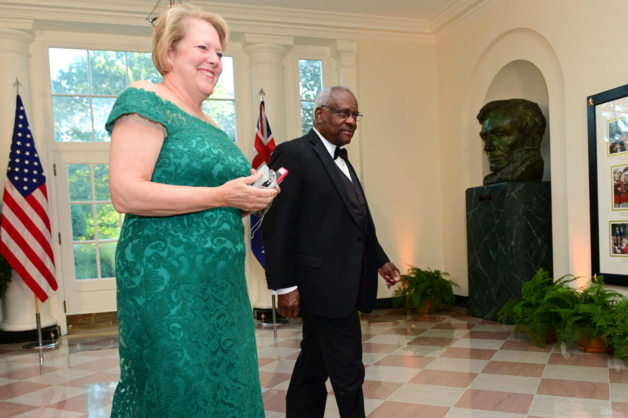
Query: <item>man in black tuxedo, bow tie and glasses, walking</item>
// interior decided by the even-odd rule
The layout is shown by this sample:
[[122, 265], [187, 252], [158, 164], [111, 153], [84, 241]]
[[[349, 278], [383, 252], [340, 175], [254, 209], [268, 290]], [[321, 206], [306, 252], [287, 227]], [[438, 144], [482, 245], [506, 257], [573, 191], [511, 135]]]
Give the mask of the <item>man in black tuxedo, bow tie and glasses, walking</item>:
[[377, 242], [364, 192], [340, 149], [362, 118], [354, 94], [323, 88], [314, 107], [313, 129], [271, 155], [271, 168], [283, 166], [288, 175], [262, 224], [266, 279], [269, 289], [279, 289], [278, 311], [303, 319], [286, 417], [322, 418], [328, 377], [340, 416], [364, 417], [357, 311], [372, 311], [378, 271], [388, 287], [401, 276]]

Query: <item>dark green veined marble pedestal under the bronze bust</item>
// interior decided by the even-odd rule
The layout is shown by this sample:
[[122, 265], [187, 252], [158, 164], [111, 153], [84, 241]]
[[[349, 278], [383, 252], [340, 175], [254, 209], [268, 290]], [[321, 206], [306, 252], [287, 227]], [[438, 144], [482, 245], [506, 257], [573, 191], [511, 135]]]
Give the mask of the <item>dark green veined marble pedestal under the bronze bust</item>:
[[543, 267], [552, 272], [549, 181], [467, 189], [468, 313], [497, 313]]

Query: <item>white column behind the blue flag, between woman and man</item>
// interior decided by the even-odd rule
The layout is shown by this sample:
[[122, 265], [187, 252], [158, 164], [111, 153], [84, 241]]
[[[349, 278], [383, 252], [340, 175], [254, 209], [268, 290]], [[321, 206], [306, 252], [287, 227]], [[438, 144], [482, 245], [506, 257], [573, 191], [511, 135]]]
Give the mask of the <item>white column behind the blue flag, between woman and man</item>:
[[[286, 117], [284, 103], [284, 74], [283, 57], [288, 47], [293, 45], [293, 38], [284, 36], [244, 35], [246, 46], [244, 53], [249, 56], [251, 68], [252, 103], [253, 109], [259, 109], [259, 90], [264, 89], [264, 105], [266, 117], [273, 132], [276, 144], [286, 140]], [[258, 112], [254, 112], [257, 122]], [[271, 291], [266, 286], [264, 269], [255, 257], [251, 259], [252, 283], [257, 287], [257, 298], [253, 302], [254, 308], [271, 308]], [[255, 292], [253, 292], [255, 293]]]

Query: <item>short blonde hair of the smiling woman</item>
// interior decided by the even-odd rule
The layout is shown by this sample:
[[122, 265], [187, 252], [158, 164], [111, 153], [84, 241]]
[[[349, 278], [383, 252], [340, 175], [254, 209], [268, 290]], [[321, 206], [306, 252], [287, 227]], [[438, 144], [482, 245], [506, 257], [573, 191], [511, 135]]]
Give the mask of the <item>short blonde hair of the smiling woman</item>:
[[176, 48], [185, 37], [190, 19], [201, 19], [214, 26], [222, 50], [227, 46], [229, 29], [225, 19], [189, 3], [170, 8], [156, 19], [153, 29], [153, 64], [161, 75], [172, 70], [167, 60], [168, 50]]

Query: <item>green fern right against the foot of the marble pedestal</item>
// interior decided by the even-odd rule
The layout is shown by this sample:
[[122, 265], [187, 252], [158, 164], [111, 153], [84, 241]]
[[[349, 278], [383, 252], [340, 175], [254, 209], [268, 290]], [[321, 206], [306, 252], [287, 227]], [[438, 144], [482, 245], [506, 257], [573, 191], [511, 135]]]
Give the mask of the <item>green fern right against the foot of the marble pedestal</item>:
[[554, 281], [549, 272], [539, 269], [532, 279], [521, 288], [521, 297], [515, 297], [502, 306], [499, 320], [508, 319], [516, 325], [515, 331], [525, 331], [530, 340], [544, 347], [553, 340], [563, 319], [560, 309], [573, 309], [577, 303], [577, 292], [569, 283], [577, 277], [566, 274]]

